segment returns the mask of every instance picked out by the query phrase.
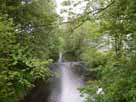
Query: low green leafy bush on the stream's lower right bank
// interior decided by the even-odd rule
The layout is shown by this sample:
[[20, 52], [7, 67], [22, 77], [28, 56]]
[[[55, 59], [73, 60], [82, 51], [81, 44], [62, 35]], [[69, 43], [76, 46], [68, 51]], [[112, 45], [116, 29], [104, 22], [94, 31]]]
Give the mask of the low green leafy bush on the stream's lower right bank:
[[[98, 56], [101, 56], [98, 55]], [[120, 62], [115, 61], [114, 58], [107, 55], [106, 63], [103, 58], [97, 56], [90, 57], [87, 66], [90, 73], [96, 73], [95, 80], [88, 80], [86, 85], [81, 88], [81, 93], [86, 93], [89, 97], [93, 97], [96, 102], [135, 102], [136, 101], [136, 71], [135, 62], [132, 64], [133, 60], [124, 60]], [[92, 58], [92, 59], [91, 59]], [[103, 93], [97, 94], [97, 90], [103, 88]], [[89, 102], [91, 98], [87, 102]]]

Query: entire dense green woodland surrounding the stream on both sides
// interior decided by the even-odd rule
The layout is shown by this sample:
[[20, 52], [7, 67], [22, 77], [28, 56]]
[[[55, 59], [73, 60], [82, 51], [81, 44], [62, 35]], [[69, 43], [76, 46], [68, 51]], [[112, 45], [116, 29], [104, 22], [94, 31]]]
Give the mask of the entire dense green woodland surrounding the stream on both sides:
[[84, 63], [85, 102], [136, 102], [136, 0], [61, 5], [60, 15], [55, 0], [0, 0], [0, 102], [19, 102], [48, 80], [60, 52]]

